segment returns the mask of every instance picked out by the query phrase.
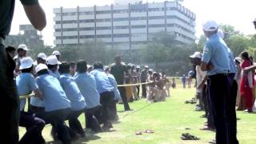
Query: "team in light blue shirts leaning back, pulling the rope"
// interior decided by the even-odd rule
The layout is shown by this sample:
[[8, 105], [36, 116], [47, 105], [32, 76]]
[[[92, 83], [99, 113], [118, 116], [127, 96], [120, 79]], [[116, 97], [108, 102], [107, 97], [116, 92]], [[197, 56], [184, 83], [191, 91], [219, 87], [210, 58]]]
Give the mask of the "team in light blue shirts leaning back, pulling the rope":
[[55, 141], [66, 144], [84, 138], [78, 120], [81, 114], [85, 114], [86, 128], [94, 132], [113, 128], [120, 94], [114, 76], [104, 71], [101, 62], [95, 62], [90, 73], [85, 60], [70, 64], [59, 62], [56, 55], [40, 53], [36, 62], [21, 58], [16, 74], [18, 95], [34, 92], [27, 110], [26, 99], [20, 100], [20, 126], [26, 127], [20, 143], [45, 143], [42, 130], [46, 124], [52, 126]]

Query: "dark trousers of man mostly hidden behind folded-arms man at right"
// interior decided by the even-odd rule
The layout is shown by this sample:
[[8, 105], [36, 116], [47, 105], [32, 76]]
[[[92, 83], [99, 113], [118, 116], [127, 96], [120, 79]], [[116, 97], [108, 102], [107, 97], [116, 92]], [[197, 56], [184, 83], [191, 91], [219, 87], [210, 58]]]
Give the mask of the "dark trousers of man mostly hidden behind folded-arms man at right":
[[237, 138], [237, 114], [235, 110], [237, 92], [238, 92], [238, 82], [234, 80], [234, 74], [230, 74], [230, 143], [238, 144]]

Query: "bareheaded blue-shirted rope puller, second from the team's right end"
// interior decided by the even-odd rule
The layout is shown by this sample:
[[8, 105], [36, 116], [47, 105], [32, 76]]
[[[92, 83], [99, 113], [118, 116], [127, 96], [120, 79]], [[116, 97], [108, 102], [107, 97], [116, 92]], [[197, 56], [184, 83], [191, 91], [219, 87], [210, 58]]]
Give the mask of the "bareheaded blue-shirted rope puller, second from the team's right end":
[[110, 102], [114, 99], [114, 86], [110, 84], [110, 80], [103, 70], [103, 65], [101, 62], [94, 63], [94, 70], [90, 72], [93, 74], [96, 81], [96, 86], [98, 93], [100, 94], [100, 102], [102, 104], [102, 122], [104, 126], [103, 130], [109, 130], [112, 128], [110, 122]]

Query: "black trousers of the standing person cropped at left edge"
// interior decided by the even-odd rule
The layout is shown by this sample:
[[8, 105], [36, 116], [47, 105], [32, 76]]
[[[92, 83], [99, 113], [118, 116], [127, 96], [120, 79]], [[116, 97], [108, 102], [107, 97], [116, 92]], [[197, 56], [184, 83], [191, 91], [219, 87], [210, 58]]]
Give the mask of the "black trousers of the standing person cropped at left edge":
[[[12, 61], [12, 62], [11, 62]], [[14, 82], [15, 63], [12, 58], [8, 58], [5, 46], [0, 43], [0, 108], [3, 117], [1, 141], [8, 144], [18, 143], [18, 123], [19, 123], [19, 99], [16, 82]]]

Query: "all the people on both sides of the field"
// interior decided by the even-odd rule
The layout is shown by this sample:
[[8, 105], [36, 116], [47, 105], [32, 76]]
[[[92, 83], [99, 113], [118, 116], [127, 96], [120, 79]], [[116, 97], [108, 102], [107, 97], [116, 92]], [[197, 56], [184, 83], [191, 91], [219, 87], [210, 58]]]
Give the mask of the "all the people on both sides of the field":
[[[46, 14], [38, 0], [21, 2], [35, 29], [44, 29]], [[149, 66], [140, 74], [140, 66], [126, 66], [121, 57], [115, 57], [110, 67], [104, 67], [101, 62], [89, 66], [85, 60], [60, 62], [61, 54], [54, 51], [48, 57], [38, 54], [34, 62], [26, 56], [26, 45], [18, 46], [15, 56], [13, 46], [4, 46], [4, 39], [10, 33], [15, 0], [0, 1], [0, 6], [2, 142], [45, 143], [42, 130], [50, 124], [54, 140], [71, 143], [86, 136], [79, 115], [85, 114], [86, 128], [90, 130], [110, 130], [112, 122], [118, 120], [116, 104], [119, 99], [124, 109], [130, 110], [128, 102], [140, 98], [139, 85], [120, 85], [146, 82], [142, 85], [142, 97], [146, 97], [147, 102], [164, 101], [170, 96], [170, 86], [176, 87], [175, 79], [170, 84], [166, 74], [156, 73]], [[256, 29], [256, 19], [254, 26]], [[203, 54], [196, 52], [190, 56], [196, 66], [199, 106], [206, 110], [206, 129], [216, 131], [216, 142], [237, 144], [235, 108], [238, 106], [238, 110], [249, 113], [256, 109], [256, 66], [247, 52], [234, 58], [216, 22], [205, 22], [203, 32], [208, 38]], [[27, 103], [26, 99], [19, 99], [18, 96], [26, 97], [32, 91], [34, 97], [28, 98]], [[18, 126], [26, 127], [26, 134], [20, 140]]]

